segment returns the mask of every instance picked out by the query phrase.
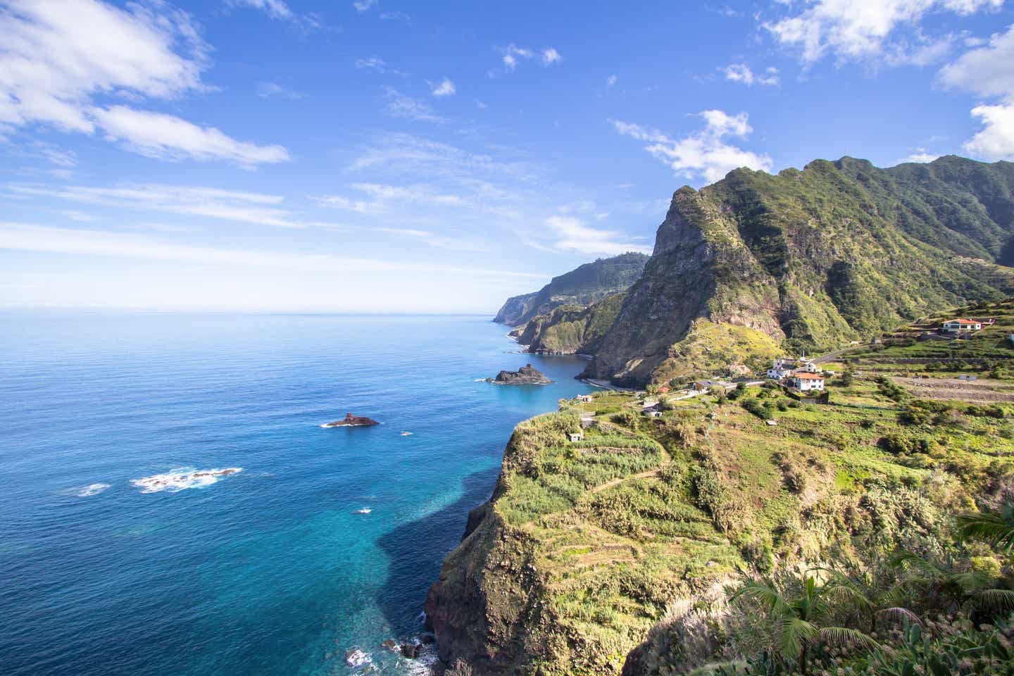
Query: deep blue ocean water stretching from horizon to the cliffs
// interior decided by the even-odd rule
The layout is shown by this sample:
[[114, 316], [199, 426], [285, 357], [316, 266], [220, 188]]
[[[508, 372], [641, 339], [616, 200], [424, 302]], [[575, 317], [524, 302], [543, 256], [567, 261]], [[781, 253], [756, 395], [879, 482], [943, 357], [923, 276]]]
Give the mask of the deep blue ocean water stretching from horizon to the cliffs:
[[[352, 647], [406, 671], [379, 644], [421, 628], [511, 429], [588, 391], [579, 360], [513, 354], [504, 332], [476, 316], [0, 313], [0, 673], [345, 674]], [[557, 383], [476, 382], [526, 362]], [[383, 425], [318, 427], [346, 411]], [[131, 483], [224, 467], [242, 471]]]

